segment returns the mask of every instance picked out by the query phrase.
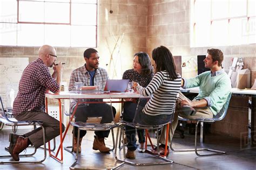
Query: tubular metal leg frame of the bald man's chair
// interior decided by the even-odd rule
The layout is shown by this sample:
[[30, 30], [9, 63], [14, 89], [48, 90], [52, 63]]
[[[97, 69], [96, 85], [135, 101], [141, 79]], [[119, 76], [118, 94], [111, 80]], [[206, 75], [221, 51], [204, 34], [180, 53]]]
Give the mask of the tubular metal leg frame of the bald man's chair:
[[[41, 126], [42, 131], [43, 131], [44, 158], [42, 160], [38, 160], [38, 161], [0, 161], [0, 164], [24, 164], [24, 163], [25, 164], [28, 164], [28, 163], [35, 164], [35, 163], [42, 163], [46, 159], [45, 129], [44, 129], [43, 125], [41, 125], [41, 124], [37, 124], [37, 125]], [[36, 149], [35, 149], [35, 152], [36, 152]], [[19, 157], [31, 157], [33, 154], [35, 154], [35, 152], [32, 154], [21, 154], [21, 155], [19, 155]], [[1, 155], [0, 159], [1, 158], [12, 158], [12, 157], [11, 157], [11, 155]]]

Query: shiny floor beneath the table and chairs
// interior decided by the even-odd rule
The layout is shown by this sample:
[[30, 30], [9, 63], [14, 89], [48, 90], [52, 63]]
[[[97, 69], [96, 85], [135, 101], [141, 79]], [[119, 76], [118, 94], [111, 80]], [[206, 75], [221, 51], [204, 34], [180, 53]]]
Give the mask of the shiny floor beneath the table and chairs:
[[[28, 130], [18, 130], [18, 134], [23, 134]], [[9, 133], [11, 130], [0, 131], [0, 154], [9, 154], [4, 151], [5, 146], [9, 146]], [[113, 153], [104, 154], [99, 151], [92, 150], [93, 132], [87, 132], [82, 142], [82, 153], [79, 154], [79, 161], [76, 168], [85, 169], [110, 169], [111, 167], [120, 164], [117, 162]], [[155, 140], [155, 139], [154, 139]], [[192, 135], [185, 134], [185, 138], [181, 139], [179, 136], [174, 136], [174, 145], [176, 148], [193, 148], [194, 138]], [[57, 139], [58, 143], [58, 139]], [[64, 146], [71, 145], [72, 133], [68, 132], [68, 137], [64, 141]], [[111, 136], [106, 140], [109, 147], [112, 146]], [[200, 145], [199, 145], [200, 146]], [[123, 165], [119, 169], [256, 169], [256, 148], [252, 146], [240, 147], [240, 140], [227, 138], [225, 136], [206, 136], [206, 141], [201, 144], [203, 147], [211, 147], [216, 150], [226, 151], [226, 155], [217, 155], [211, 157], [198, 157], [194, 152], [171, 152], [169, 159], [173, 160], [173, 164], [169, 165], [154, 165], [154, 166], [140, 166], [135, 167], [131, 165]], [[31, 152], [31, 149], [26, 150], [26, 153]], [[118, 155], [122, 152], [118, 150]], [[21, 158], [21, 160], [36, 160], [43, 157], [43, 150], [37, 150], [37, 153], [30, 158]], [[12, 159], [1, 159], [1, 161]], [[146, 153], [138, 153], [136, 151], [135, 162], [150, 162], [159, 161], [152, 155]], [[58, 161], [52, 159], [47, 155], [46, 160], [42, 164], [9, 164], [0, 165], [0, 169], [69, 169], [75, 162], [75, 154], [64, 151], [64, 162], [60, 164]]]

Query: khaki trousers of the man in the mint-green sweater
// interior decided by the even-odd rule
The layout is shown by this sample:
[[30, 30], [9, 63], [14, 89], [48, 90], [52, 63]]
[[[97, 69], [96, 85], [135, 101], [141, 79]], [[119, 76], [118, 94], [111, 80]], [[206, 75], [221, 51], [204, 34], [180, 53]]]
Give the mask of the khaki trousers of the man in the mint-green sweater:
[[[186, 96], [184, 96], [181, 92], [179, 92], [179, 97], [177, 98], [177, 103], [180, 103], [182, 100], [189, 100]], [[172, 124], [169, 126], [169, 137], [167, 141], [167, 145], [171, 145], [171, 140], [174, 134], [174, 131], [177, 128], [178, 125], [178, 116], [182, 116], [184, 118], [212, 118], [213, 113], [210, 110], [209, 107], [201, 107], [201, 108], [194, 108], [196, 109], [196, 114], [193, 116], [187, 116], [187, 114], [184, 114], [184, 112], [181, 112], [179, 108], [176, 107], [176, 111], [174, 113], [174, 118]], [[167, 131], [167, 125], [164, 126], [163, 130], [161, 131], [161, 136], [159, 139], [159, 143], [165, 144], [166, 143], [166, 131]]]

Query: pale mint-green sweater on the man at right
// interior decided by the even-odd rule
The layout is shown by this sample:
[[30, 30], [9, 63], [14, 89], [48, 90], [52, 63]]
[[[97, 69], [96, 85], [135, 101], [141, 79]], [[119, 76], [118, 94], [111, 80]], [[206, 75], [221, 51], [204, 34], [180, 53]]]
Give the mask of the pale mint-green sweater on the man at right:
[[211, 76], [211, 71], [208, 71], [186, 80], [186, 88], [198, 86], [199, 94], [194, 100], [205, 98], [213, 115], [217, 115], [225, 104], [228, 94], [230, 94], [230, 77], [225, 72], [217, 76]]

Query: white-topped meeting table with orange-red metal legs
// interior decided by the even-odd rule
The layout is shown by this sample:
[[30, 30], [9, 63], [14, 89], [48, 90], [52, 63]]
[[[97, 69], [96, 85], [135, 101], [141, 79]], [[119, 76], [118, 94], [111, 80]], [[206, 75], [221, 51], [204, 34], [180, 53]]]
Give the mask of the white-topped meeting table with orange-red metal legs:
[[[66, 133], [68, 132], [70, 122], [66, 127], [64, 134], [62, 135], [62, 99], [123, 99], [123, 98], [139, 98], [141, 95], [137, 93], [109, 93], [107, 91], [60, 91], [58, 94], [47, 93], [45, 94], [45, 108], [48, 113], [48, 98], [55, 98], [59, 103], [59, 127], [60, 127], [60, 145], [55, 155], [51, 153], [50, 142], [49, 146], [49, 155], [50, 157], [56, 159], [57, 161], [63, 163], [63, 140], [65, 139]], [[112, 101], [111, 103], [122, 103], [123, 101]], [[79, 102], [78, 102], [79, 103]], [[76, 112], [78, 103], [73, 111], [73, 114]], [[58, 158], [58, 153], [60, 151], [60, 158]]]

